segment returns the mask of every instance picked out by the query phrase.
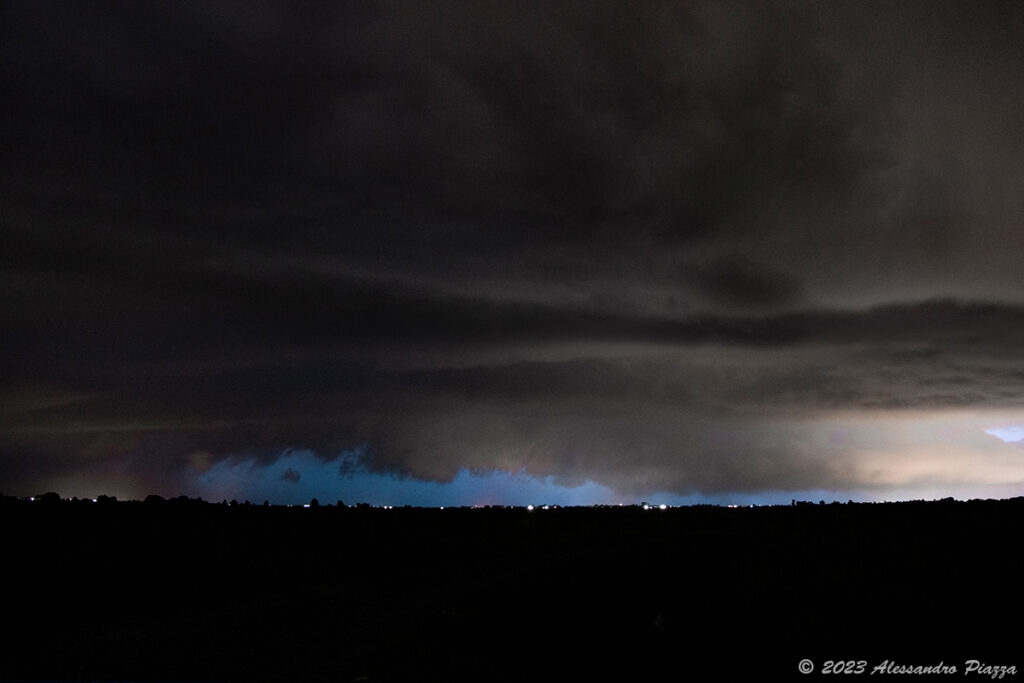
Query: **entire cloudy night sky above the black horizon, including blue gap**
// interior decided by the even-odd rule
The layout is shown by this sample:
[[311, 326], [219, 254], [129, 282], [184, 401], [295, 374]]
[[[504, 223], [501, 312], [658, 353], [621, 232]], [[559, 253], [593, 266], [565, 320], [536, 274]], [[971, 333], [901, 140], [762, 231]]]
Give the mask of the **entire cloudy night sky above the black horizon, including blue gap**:
[[1024, 4], [0, 5], [0, 490], [1024, 495]]

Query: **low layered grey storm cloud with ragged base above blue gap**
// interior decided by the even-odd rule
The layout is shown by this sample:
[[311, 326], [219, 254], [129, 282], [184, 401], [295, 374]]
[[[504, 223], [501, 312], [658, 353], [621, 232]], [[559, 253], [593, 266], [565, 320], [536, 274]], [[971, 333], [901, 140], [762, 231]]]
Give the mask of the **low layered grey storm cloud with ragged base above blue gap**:
[[348, 469], [440, 481], [497, 468], [637, 494], [849, 487], [865, 479], [849, 459], [821, 457], [815, 420], [1024, 408], [1019, 309], [934, 302], [699, 329], [590, 348], [571, 336], [434, 344], [372, 362], [338, 349], [299, 355], [297, 341], [263, 358], [143, 361], [92, 393], [9, 391], [25, 409], [4, 420], [4, 440], [37, 471], [59, 469], [61, 453], [186, 477], [201, 452], [269, 463], [311, 449]]

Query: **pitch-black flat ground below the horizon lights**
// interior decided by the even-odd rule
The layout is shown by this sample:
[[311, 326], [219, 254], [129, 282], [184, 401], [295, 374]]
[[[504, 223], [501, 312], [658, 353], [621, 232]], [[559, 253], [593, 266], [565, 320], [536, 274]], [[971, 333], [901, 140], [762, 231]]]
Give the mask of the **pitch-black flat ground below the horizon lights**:
[[[968, 659], [1021, 680], [1022, 522], [1024, 500], [527, 512], [7, 499], [0, 680], [996, 671], [965, 675]], [[824, 676], [829, 659], [864, 672]]]

